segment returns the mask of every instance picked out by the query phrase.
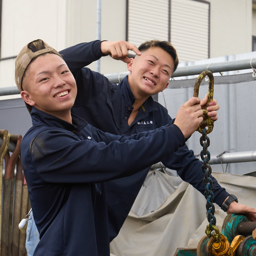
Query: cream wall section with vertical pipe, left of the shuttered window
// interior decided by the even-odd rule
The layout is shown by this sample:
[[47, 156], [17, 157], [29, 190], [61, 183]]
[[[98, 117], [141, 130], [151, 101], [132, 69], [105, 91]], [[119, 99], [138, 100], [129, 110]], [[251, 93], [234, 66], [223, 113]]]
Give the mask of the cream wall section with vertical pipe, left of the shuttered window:
[[[97, 1], [68, 0], [67, 45], [97, 39]], [[125, 40], [126, 37], [126, 0], [102, 0], [101, 40]], [[96, 70], [96, 63], [89, 66]], [[124, 72], [126, 64], [109, 56], [100, 60], [100, 72], [103, 74]]]

